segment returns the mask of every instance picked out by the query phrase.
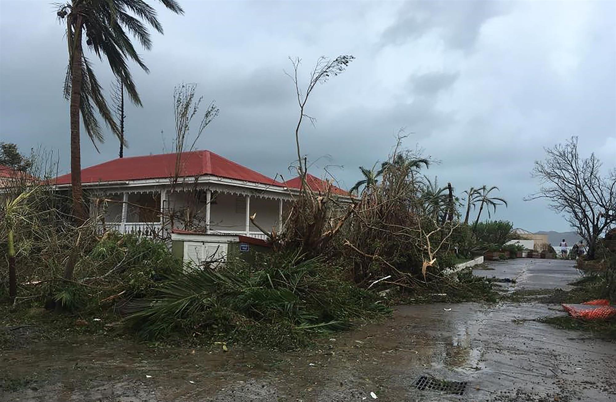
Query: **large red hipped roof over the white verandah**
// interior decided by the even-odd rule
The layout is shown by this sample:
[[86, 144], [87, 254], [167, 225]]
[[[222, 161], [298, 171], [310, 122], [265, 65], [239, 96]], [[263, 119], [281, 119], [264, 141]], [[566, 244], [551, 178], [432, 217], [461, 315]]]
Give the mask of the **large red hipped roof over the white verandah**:
[[[212, 175], [251, 183], [283, 186], [261, 173], [232, 162], [208, 150], [183, 152], [179, 163], [179, 177]], [[147, 155], [118, 158], [81, 170], [82, 183], [171, 178], [176, 170], [176, 154]], [[70, 173], [55, 179], [56, 184], [70, 184]]]

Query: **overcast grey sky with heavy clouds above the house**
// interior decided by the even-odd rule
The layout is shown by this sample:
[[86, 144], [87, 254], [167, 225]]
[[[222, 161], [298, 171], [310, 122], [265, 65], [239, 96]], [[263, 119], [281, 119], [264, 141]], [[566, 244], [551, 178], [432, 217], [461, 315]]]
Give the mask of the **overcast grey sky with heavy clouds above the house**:
[[[616, 160], [616, 2], [201, 2], [179, 0], [185, 15], [160, 9], [164, 36], [132, 71], [144, 107], [129, 106], [126, 156], [169, 150], [172, 93], [198, 83], [219, 117], [197, 144], [269, 176], [290, 178], [298, 115], [288, 57], [301, 78], [321, 55], [355, 56], [341, 76], [318, 86], [302, 153], [342, 187], [360, 165], [387, 158], [395, 134], [441, 161], [426, 170], [456, 192], [500, 187], [509, 201], [496, 218], [530, 231], [569, 230], [530, 178], [543, 147], [571, 135], [584, 154]], [[63, 27], [47, 1], [0, 1], [0, 140], [23, 151], [43, 146], [69, 166], [67, 63]], [[96, 67], [107, 87], [105, 64]], [[162, 134], [161, 134], [162, 132]], [[166, 143], [166, 146], [164, 145]], [[82, 164], [116, 158], [107, 134], [100, 154], [82, 131]]]

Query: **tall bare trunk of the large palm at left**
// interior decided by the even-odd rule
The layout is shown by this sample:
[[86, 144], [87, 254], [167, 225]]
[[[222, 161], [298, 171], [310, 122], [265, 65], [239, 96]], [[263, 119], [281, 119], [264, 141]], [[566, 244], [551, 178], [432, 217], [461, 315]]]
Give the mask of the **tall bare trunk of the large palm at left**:
[[[71, 194], [73, 195], [73, 215], [78, 224], [83, 223], [87, 216], [83, 203], [81, 189], [81, 147], [79, 143], [79, 107], [81, 106], [82, 80], [82, 49], [81, 49], [81, 16], [77, 17], [75, 36], [73, 38], [71, 60]], [[72, 274], [72, 273], [71, 273]]]

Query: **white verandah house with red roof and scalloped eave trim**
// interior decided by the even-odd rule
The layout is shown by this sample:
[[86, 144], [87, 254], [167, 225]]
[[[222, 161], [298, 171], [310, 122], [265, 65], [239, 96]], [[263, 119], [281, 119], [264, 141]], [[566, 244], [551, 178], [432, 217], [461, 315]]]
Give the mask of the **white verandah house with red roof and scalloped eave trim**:
[[[209, 150], [182, 154], [124, 157], [81, 170], [91, 213], [120, 232], [170, 229], [212, 235], [267, 239], [280, 231], [285, 211], [299, 194], [301, 179], [277, 181]], [[68, 189], [70, 174], [54, 179]], [[349, 194], [326, 180], [307, 175], [314, 192]]]

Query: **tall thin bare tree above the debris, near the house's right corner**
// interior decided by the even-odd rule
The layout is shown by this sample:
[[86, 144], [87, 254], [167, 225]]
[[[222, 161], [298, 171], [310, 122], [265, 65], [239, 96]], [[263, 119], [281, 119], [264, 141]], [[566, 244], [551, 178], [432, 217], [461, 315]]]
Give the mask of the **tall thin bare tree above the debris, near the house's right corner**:
[[325, 83], [331, 76], [336, 76], [344, 72], [347, 65], [349, 65], [349, 63], [352, 62], [354, 58], [355, 57], [353, 57], [352, 55], [339, 55], [335, 59], [319, 57], [319, 59], [317, 60], [317, 64], [315, 64], [314, 69], [312, 70], [312, 73], [310, 73], [310, 80], [305, 92], [302, 91], [301, 88], [299, 88], [298, 80], [298, 68], [301, 64], [301, 59], [299, 59], [299, 57], [296, 59], [289, 58], [291, 60], [291, 64], [293, 64], [293, 75], [289, 73], [287, 73], [287, 75], [291, 77], [291, 80], [293, 80], [293, 83], [295, 84], [295, 92], [298, 97], [299, 105], [298, 124], [295, 126], [295, 144], [298, 150], [298, 173], [299, 176], [302, 178], [302, 187], [304, 186], [304, 181], [306, 177], [306, 162], [304, 162], [304, 165], [302, 166], [302, 155], [299, 151], [299, 129], [301, 128], [304, 117], [310, 120], [311, 123], [314, 123], [315, 121], [314, 117], [310, 117], [306, 114], [306, 102], [308, 101], [308, 97], [318, 83]]

